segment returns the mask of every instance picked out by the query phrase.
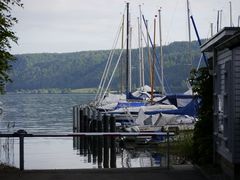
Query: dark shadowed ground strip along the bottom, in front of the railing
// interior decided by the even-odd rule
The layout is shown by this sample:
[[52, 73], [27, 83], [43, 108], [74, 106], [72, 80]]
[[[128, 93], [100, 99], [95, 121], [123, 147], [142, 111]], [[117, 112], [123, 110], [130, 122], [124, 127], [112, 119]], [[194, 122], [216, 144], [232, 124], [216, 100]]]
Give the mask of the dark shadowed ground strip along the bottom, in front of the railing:
[[0, 179], [4, 180], [206, 180], [193, 166], [164, 168], [131, 168], [131, 169], [88, 169], [88, 170], [34, 170], [0, 172]]

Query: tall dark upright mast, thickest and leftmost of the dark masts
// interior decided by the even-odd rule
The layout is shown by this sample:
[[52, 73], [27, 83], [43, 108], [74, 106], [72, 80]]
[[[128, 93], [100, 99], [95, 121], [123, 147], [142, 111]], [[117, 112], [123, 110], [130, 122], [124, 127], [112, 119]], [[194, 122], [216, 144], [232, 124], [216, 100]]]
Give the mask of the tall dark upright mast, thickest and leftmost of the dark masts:
[[128, 99], [129, 94], [129, 3], [127, 3], [127, 47], [126, 47], [126, 98]]

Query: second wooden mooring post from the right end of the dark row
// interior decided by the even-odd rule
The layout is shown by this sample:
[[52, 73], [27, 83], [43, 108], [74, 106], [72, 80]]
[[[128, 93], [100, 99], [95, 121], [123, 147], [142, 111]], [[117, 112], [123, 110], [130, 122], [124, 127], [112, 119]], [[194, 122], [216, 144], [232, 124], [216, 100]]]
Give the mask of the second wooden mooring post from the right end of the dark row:
[[[103, 131], [104, 132], [108, 132], [109, 131], [109, 120], [108, 120], [108, 116], [104, 115], [103, 116]], [[109, 143], [108, 143], [108, 137], [104, 136], [103, 139], [103, 149], [104, 149], [104, 153], [103, 153], [103, 167], [104, 168], [109, 168]]]

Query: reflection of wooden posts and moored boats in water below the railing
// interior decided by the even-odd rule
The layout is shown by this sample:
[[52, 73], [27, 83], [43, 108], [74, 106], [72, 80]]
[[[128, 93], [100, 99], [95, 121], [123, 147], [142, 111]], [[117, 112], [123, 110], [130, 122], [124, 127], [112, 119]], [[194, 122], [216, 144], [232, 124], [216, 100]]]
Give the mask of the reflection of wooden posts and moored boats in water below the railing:
[[160, 153], [157, 146], [138, 146], [135, 142], [130, 146], [122, 146], [118, 139], [111, 142], [110, 137], [104, 138], [74, 137], [73, 148], [77, 150], [79, 156], [86, 157], [88, 163], [97, 165], [98, 168], [167, 166], [166, 154]]

